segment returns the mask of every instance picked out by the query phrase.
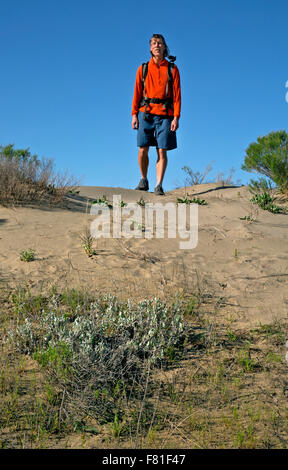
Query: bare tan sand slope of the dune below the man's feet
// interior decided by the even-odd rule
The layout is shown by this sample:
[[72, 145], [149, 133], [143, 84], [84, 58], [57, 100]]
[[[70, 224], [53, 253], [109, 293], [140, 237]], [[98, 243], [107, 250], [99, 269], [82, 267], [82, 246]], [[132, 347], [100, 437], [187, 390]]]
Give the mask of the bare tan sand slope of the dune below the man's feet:
[[[241, 324], [287, 318], [288, 216], [257, 211], [247, 187], [205, 184], [164, 197], [124, 188], [78, 189], [64, 207], [0, 207], [0, 286], [81, 286], [139, 299], [200, 288], [222, 297], [226, 314]], [[148, 239], [141, 231], [141, 238], [95, 240], [97, 254], [85, 254], [80, 237], [95, 220], [90, 208], [96, 198], [176, 203], [185, 191], [207, 202], [199, 206], [195, 248], [180, 249], [179, 234]], [[256, 220], [240, 219], [249, 214]], [[20, 260], [28, 248], [36, 253], [29, 263]]]

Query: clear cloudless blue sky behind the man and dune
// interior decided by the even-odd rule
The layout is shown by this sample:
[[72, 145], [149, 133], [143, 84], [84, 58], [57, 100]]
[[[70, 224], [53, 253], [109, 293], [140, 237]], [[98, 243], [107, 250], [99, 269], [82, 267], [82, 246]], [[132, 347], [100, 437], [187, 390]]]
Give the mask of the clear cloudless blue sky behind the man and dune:
[[[182, 85], [164, 189], [210, 162], [211, 177], [233, 166], [246, 184], [248, 145], [287, 130], [287, 0], [0, 0], [0, 18], [0, 144], [52, 157], [84, 185], [138, 184], [131, 103], [152, 33]], [[151, 149], [152, 189], [155, 162]]]

